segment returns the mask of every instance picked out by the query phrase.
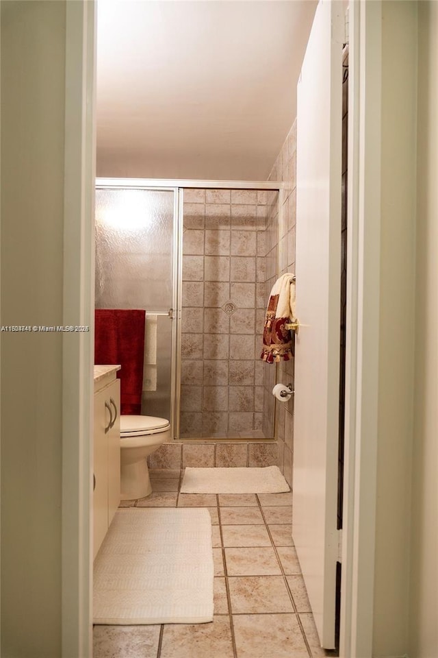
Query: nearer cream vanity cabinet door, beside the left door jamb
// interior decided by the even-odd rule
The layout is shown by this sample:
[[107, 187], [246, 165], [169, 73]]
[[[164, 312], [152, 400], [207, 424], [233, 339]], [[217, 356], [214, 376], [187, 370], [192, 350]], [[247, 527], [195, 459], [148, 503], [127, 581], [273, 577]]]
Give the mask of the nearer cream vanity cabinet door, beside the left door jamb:
[[105, 407], [106, 390], [94, 395], [93, 559], [108, 529], [108, 443], [105, 428], [110, 424], [110, 411]]

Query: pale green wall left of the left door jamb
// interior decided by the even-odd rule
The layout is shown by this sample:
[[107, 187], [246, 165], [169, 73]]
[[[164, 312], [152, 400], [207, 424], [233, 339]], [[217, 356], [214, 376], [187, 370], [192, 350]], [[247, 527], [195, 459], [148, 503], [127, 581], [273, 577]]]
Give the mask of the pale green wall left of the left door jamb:
[[[1, 3], [1, 324], [62, 324], [66, 3]], [[62, 334], [1, 333], [1, 655], [61, 655]]]

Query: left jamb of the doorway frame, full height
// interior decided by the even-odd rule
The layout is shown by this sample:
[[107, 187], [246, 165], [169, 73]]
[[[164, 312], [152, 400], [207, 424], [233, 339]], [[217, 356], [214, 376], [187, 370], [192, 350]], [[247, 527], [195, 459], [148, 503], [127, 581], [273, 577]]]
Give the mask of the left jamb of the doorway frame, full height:
[[62, 658], [92, 656], [96, 3], [66, 2], [62, 337]]

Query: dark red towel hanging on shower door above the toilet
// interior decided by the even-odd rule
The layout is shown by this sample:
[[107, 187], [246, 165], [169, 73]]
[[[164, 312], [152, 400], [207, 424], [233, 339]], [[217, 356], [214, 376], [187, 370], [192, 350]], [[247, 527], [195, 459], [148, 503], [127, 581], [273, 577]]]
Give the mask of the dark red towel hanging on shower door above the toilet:
[[142, 411], [144, 361], [144, 310], [96, 308], [94, 363], [121, 365], [120, 413]]

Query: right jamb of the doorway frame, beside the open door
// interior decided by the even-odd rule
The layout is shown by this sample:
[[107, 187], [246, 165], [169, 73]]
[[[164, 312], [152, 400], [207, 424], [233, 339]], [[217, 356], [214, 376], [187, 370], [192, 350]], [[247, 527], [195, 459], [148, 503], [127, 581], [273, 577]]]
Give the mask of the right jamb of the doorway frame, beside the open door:
[[342, 658], [372, 655], [381, 232], [381, 0], [349, 4]]

